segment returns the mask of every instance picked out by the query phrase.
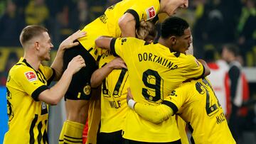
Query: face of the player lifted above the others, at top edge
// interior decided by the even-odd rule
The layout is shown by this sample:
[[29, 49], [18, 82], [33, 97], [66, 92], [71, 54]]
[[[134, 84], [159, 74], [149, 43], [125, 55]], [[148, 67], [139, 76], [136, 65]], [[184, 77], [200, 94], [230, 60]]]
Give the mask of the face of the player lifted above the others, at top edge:
[[165, 6], [166, 9], [164, 12], [169, 16], [172, 16], [178, 11], [178, 9], [188, 8], [188, 0], [168, 0]]

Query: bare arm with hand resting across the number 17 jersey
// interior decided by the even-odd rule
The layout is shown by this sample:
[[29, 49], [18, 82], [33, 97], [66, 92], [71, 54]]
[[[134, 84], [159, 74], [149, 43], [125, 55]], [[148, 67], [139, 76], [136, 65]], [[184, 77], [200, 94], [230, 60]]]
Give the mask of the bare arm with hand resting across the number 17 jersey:
[[91, 77], [91, 87], [95, 88], [100, 86], [102, 84], [103, 79], [107, 77], [110, 72], [114, 69], [121, 69], [121, 68], [126, 68], [126, 65], [124, 63], [124, 60], [120, 57], [114, 58], [111, 62], [107, 63], [104, 67], [101, 67], [100, 69], [96, 70], [93, 72], [92, 77]]

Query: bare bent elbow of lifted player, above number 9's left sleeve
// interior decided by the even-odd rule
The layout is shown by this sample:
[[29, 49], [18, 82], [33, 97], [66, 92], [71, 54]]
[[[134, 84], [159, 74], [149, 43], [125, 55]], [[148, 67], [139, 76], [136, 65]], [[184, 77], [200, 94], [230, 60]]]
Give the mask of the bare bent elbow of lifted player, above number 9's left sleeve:
[[132, 14], [132, 12], [125, 13], [124, 16], [119, 18], [118, 24], [122, 37], [135, 37], [136, 23], [139, 21], [139, 16], [136, 16], [137, 19], [134, 18], [134, 15], [136, 14], [136, 11], [134, 11], [134, 14]]

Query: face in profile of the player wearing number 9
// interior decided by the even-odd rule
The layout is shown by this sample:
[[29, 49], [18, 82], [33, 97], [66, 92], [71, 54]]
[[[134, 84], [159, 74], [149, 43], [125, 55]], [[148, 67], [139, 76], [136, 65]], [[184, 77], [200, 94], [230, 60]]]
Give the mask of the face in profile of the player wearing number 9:
[[176, 43], [173, 47], [174, 51], [185, 53], [192, 43], [191, 40], [191, 29], [187, 28], [184, 30], [184, 34], [176, 37]]

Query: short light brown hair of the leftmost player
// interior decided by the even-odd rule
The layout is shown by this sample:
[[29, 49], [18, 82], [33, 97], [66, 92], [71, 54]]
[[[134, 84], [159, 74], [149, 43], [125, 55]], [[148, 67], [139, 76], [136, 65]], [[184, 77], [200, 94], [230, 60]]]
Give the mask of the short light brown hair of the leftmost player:
[[20, 35], [20, 42], [21, 45], [28, 42], [28, 40], [31, 40], [32, 38], [42, 35], [43, 32], [48, 32], [47, 28], [44, 28], [43, 26], [37, 26], [37, 25], [31, 25], [26, 26], [21, 31]]

